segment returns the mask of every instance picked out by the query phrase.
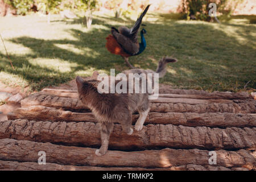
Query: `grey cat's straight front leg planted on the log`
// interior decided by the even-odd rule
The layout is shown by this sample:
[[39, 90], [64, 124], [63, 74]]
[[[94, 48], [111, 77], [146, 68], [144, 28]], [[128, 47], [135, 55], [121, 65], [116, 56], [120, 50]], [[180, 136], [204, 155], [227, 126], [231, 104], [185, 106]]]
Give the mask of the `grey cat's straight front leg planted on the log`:
[[97, 149], [95, 154], [101, 156], [106, 154], [109, 147], [109, 136], [114, 127], [114, 123], [102, 122], [101, 123], [101, 148]]

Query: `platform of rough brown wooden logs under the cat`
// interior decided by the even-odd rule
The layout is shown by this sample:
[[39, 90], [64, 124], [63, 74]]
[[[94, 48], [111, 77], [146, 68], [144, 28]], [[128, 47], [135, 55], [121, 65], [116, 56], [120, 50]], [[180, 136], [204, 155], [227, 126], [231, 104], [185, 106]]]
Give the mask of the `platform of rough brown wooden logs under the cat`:
[[[141, 131], [115, 123], [109, 151], [77, 90], [43, 89], [0, 122], [1, 170], [254, 170], [256, 101], [246, 92], [160, 88]], [[133, 124], [138, 113], [133, 114]], [[46, 152], [46, 165], [38, 152]], [[209, 163], [215, 151], [217, 164]], [[138, 160], [139, 159], [139, 160]]]

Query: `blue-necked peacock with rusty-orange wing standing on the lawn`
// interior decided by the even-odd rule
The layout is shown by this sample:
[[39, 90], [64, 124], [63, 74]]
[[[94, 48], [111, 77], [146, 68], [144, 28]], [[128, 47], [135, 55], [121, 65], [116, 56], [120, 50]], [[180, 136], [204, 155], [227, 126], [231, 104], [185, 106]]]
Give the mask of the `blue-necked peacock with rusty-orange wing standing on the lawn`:
[[125, 60], [126, 64], [130, 68], [134, 68], [133, 65], [131, 65], [128, 61], [128, 58], [130, 56], [136, 56], [139, 55], [144, 51], [146, 48], [146, 40], [144, 38], [144, 34], [147, 33], [147, 31], [142, 28], [141, 30], [141, 43], [138, 43], [138, 32], [142, 23], [142, 18], [144, 15], [146, 15], [148, 8], [150, 5], [147, 5], [146, 9], [143, 11], [143, 13], [139, 16], [137, 21], [135, 22], [134, 26], [132, 28], [127, 28], [125, 26], [121, 26], [117, 28], [112, 27], [111, 33], [107, 38], [106, 42], [106, 48], [110, 53], [113, 53], [115, 55], [121, 55], [123, 59]]

